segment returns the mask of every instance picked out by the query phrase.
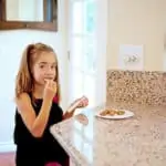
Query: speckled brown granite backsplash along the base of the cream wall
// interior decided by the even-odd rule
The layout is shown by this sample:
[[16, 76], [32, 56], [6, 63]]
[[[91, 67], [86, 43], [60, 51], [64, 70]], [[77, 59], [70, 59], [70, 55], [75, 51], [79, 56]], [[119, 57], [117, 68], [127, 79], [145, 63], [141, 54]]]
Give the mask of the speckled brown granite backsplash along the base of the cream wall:
[[107, 100], [166, 105], [166, 73], [107, 71]]

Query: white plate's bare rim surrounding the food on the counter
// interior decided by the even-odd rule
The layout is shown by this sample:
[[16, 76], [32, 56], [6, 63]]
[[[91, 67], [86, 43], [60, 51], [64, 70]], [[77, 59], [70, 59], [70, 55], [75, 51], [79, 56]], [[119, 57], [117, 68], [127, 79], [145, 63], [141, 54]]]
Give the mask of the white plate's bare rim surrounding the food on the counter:
[[103, 112], [103, 111], [101, 111], [96, 114], [96, 116], [102, 117], [102, 118], [108, 118], [108, 120], [122, 120], [122, 118], [128, 118], [128, 117], [134, 116], [134, 113], [131, 112], [131, 111], [126, 111], [126, 110], [120, 110], [120, 111], [124, 111], [125, 114], [123, 114], [123, 115], [113, 115], [113, 116], [111, 116], [111, 115], [102, 116], [102, 115], [100, 115], [100, 113]]

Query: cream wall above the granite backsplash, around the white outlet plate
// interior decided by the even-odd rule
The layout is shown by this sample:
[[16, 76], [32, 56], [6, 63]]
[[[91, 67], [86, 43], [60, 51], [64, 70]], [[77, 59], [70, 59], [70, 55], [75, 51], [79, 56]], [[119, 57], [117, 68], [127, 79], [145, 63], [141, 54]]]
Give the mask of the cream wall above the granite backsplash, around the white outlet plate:
[[163, 71], [166, 0], [108, 0], [107, 69], [118, 69], [120, 44], [144, 44], [144, 70]]

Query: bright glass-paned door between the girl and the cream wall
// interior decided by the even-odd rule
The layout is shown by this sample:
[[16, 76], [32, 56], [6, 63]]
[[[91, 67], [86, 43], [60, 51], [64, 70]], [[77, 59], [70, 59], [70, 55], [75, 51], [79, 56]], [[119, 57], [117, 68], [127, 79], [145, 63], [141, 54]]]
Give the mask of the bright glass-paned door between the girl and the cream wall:
[[71, 0], [70, 22], [70, 102], [84, 94], [94, 106], [96, 0]]

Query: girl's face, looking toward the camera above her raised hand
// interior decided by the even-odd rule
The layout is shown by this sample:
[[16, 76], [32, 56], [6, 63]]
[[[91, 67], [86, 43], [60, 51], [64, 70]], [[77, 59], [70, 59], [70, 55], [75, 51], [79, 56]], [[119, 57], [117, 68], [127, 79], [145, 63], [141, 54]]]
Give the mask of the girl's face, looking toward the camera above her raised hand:
[[56, 64], [55, 54], [53, 52], [42, 52], [32, 65], [34, 83], [44, 85], [45, 80], [55, 80]]

